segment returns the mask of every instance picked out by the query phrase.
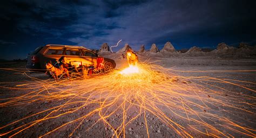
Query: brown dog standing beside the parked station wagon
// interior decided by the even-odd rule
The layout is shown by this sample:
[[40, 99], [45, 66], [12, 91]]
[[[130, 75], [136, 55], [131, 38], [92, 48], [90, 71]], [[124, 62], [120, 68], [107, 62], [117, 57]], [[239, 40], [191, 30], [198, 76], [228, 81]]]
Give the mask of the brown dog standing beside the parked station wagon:
[[47, 69], [46, 72], [49, 72], [49, 74], [55, 78], [56, 81], [58, 81], [59, 75], [65, 75], [66, 77], [69, 77], [69, 70], [66, 68], [63, 68], [62, 66], [60, 69], [52, 66], [51, 61], [45, 64], [45, 68]]

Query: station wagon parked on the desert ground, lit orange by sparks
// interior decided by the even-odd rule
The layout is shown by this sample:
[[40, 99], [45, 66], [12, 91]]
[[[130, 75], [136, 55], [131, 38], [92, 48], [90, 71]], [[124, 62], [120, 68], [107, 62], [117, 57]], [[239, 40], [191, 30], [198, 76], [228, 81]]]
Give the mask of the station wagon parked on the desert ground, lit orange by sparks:
[[[56, 63], [60, 57], [65, 56], [73, 66], [97, 67], [98, 54], [81, 46], [46, 45], [38, 47], [27, 56], [26, 68], [31, 71], [45, 70], [45, 63], [49, 60]], [[110, 70], [116, 67], [116, 62], [104, 57], [104, 69]]]

